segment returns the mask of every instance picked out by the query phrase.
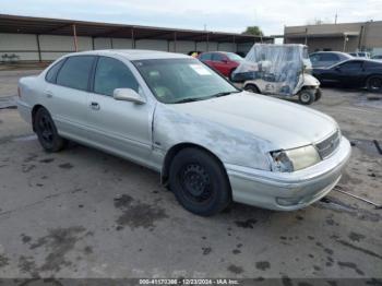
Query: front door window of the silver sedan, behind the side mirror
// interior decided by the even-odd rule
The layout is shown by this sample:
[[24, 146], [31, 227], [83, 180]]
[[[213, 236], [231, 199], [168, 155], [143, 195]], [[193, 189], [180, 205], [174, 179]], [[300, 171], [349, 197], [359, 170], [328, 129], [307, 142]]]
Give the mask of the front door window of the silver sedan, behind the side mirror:
[[139, 93], [139, 83], [130, 69], [117, 59], [99, 57], [94, 75], [94, 92], [112, 96], [116, 88], [123, 87]]

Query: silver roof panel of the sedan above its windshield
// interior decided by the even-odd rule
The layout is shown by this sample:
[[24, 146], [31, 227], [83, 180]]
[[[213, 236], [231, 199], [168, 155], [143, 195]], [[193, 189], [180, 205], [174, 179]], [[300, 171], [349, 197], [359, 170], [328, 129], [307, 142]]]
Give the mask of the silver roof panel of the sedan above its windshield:
[[68, 56], [75, 55], [95, 55], [95, 56], [122, 56], [128, 60], [148, 60], [148, 59], [189, 59], [190, 56], [176, 53], [176, 52], [167, 52], [167, 51], [158, 51], [158, 50], [140, 50], [140, 49], [105, 49], [105, 50], [89, 50], [89, 51], [80, 51], [72, 52]]

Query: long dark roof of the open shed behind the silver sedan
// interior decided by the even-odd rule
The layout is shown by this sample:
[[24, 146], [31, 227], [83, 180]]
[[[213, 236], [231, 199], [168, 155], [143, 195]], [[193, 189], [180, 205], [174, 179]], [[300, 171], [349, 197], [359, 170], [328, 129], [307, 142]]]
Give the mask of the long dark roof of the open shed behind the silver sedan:
[[237, 33], [153, 27], [141, 25], [111, 24], [76, 20], [32, 17], [0, 14], [0, 33], [73, 35], [73, 24], [77, 36], [114, 37], [165, 40], [195, 40], [217, 43], [270, 41], [272, 37], [259, 37]]

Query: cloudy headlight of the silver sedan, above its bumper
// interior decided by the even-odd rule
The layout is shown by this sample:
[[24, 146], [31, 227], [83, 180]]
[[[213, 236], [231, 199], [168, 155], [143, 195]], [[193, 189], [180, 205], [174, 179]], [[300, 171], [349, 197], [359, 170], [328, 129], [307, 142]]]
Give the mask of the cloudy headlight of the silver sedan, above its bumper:
[[312, 146], [271, 152], [272, 170], [295, 171], [310, 167], [321, 160], [319, 153]]

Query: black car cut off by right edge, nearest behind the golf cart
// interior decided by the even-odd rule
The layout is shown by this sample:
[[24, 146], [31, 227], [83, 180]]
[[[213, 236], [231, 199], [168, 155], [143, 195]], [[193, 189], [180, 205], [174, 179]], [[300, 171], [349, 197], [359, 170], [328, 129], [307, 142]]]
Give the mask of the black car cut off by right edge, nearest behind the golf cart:
[[329, 68], [313, 69], [321, 84], [344, 87], [367, 87], [370, 92], [382, 92], [382, 62], [351, 59]]

